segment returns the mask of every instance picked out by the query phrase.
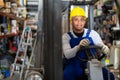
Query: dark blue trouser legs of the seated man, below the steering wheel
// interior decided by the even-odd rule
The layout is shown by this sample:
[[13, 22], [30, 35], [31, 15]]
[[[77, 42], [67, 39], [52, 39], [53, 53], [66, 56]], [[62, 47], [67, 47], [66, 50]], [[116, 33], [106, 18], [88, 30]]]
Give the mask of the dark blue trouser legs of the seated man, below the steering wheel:
[[[64, 69], [64, 80], [88, 80], [87, 75], [84, 73], [84, 69], [82, 67], [77, 67], [71, 64], [68, 64]], [[108, 70], [103, 68], [103, 78], [104, 80], [108, 80]], [[115, 80], [114, 75], [109, 72], [110, 80]]]

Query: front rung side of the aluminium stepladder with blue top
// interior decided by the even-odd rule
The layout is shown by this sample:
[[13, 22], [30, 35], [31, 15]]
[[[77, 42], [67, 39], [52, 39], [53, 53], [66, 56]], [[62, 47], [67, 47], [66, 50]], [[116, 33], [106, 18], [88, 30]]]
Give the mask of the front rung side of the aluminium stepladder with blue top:
[[27, 49], [29, 46], [32, 48], [32, 31], [30, 27], [24, 27], [12, 66], [11, 77], [17, 74], [19, 80], [22, 80], [24, 68], [27, 66]]

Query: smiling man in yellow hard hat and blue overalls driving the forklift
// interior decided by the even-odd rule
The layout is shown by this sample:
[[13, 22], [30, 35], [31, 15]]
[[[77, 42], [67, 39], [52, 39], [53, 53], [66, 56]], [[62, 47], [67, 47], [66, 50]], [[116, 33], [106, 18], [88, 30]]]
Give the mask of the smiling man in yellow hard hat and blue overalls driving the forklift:
[[[81, 50], [82, 47], [96, 45], [101, 47], [104, 54], [109, 53], [109, 48], [102, 42], [100, 35], [94, 30], [85, 28], [86, 18], [84, 9], [79, 6], [70, 12], [72, 31], [62, 36], [63, 54], [66, 59], [64, 80], [88, 80], [85, 75], [87, 61], [84, 61], [87, 56], [85, 50]], [[104, 80], [108, 80], [107, 75], [107, 69], [103, 69]], [[114, 80], [112, 73], [110, 73], [110, 80]]]

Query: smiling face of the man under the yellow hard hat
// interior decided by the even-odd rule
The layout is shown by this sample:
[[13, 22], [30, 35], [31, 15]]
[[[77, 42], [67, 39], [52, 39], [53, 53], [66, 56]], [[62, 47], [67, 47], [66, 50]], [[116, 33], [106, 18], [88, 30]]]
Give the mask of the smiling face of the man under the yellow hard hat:
[[82, 16], [75, 16], [72, 18], [71, 24], [73, 26], [73, 30], [77, 33], [81, 33], [84, 30], [86, 18]]

